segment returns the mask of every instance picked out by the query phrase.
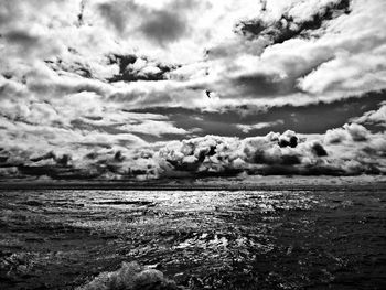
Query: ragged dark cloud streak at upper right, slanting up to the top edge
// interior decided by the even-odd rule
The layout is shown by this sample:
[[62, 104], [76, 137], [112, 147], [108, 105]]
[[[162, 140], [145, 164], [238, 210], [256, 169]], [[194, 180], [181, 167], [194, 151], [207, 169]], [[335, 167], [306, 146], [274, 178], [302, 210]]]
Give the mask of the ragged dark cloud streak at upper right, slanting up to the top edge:
[[267, 37], [271, 43], [282, 43], [298, 36], [309, 37], [312, 31], [321, 29], [326, 21], [349, 14], [350, 3], [350, 0], [331, 2], [302, 22], [297, 21], [289, 12], [268, 23], [262, 19], [242, 21], [236, 25], [235, 32], [247, 39]]

